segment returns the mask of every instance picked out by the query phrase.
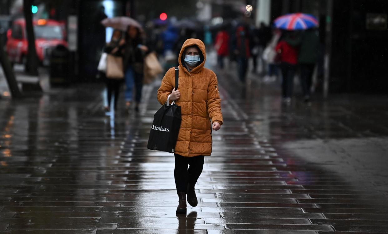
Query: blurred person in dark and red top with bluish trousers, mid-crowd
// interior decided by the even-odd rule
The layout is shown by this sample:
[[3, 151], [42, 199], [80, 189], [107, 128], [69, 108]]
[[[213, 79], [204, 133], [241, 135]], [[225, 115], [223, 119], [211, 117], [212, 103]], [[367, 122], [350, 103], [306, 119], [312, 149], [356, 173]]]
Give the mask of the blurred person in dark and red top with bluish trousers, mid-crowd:
[[245, 82], [246, 72], [248, 70], [248, 60], [250, 57], [249, 51], [249, 35], [246, 26], [238, 26], [236, 30], [236, 46], [235, 54], [237, 56], [238, 76], [241, 82]]

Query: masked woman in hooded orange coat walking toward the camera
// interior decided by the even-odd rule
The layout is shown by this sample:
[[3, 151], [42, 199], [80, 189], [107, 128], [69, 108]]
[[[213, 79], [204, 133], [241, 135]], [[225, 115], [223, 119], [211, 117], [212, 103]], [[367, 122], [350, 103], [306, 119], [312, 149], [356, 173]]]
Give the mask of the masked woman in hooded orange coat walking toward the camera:
[[186, 40], [178, 57], [179, 89], [175, 90], [174, 68], [167, 71], [158, 89], [160, 104], [175, 101], [182, 111], [175, 146], [177, 213], [186, 213], [186, 194], [187, 202], [197, 206], [194, 187], [202, 173], [204, 156], [211, 154], [211, 130], [219, 130], [223, 123], [217, 76], [204, 68], [205, 61], [204, 43], [198, 39]]

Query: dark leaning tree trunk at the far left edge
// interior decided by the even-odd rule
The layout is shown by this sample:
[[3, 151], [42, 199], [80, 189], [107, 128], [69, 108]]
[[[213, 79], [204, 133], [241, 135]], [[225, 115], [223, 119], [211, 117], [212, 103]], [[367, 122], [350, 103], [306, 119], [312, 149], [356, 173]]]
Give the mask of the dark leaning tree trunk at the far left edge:
[[5, 79], [7, 80], [12, 97], [20, 98], [22, 97], [22, 94], [17, 86], [14, 69], [12, 69], [11, 63], [9, 62], [8, 56], [3, 48], [3, 40], [0, 38], [0, 64], [3, 67]]

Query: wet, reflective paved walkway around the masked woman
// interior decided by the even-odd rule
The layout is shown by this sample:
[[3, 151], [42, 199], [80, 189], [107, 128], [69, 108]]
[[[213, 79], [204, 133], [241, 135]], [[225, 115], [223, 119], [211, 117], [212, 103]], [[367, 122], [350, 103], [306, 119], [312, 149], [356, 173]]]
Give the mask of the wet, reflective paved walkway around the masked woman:
[[172, 154], [146, 149], [157, 83], [139, 114], [105, 115], [99, 84], [0, 100], [0, 234], [388, 233], [388, 99], [284, 106], [231, 74], [187, 216]]

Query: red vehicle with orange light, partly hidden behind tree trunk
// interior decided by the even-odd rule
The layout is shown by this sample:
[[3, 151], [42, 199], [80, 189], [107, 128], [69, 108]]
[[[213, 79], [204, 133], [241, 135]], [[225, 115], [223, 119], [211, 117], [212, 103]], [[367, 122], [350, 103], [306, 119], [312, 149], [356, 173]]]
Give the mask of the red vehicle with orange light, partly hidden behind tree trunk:
[[[57, 45], [68, 47], [65, 41], [64, 23], [55, 20], [38, 19], [33, 21], [36, 55], [41, 64], [47, 66], [51, 51]], [[17, 19], [7, 31], [7, 54], [11, 62], [25, 64], [28, 51], [26, 21]]]

